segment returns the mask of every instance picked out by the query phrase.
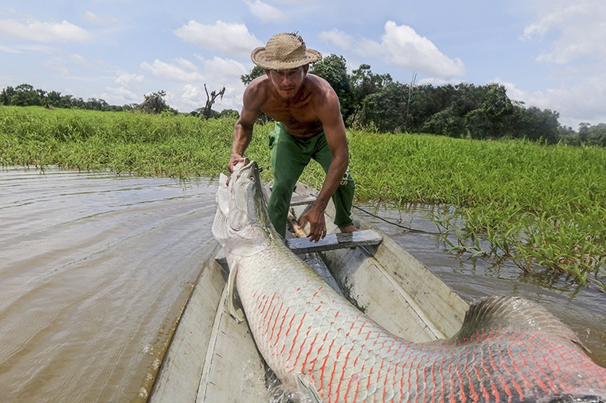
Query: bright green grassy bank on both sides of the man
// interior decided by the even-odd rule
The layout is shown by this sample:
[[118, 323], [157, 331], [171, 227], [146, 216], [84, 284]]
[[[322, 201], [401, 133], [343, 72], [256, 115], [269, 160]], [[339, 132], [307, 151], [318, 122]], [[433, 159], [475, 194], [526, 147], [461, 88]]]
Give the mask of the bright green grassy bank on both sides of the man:
[[[0, 107], [0, 163], [188, 178], [225, 172], [233, 120]], [[271, 177], [267, 133], [247, 154]], [[548, 267], [606, 290], [606, 149], [350, 132], [356, 197], [445, 206], [453, 250]], [[302, 179], [321, 186], [311, 165]], [[482, 245], [490, 245], [482, 247]]]

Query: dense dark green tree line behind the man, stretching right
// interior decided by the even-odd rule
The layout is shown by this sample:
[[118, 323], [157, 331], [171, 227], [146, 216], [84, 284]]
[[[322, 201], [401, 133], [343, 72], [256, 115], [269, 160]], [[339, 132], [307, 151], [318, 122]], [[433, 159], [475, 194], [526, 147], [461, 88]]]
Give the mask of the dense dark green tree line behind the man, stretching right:
[[[583, 123], [575, 132], [558, 123], [558, 112], [510, 100], [501, 84], [415, 85], [414, 79], [402, 84], [389, 74], [373, 73], [368, 64], [348, 73], [345, 58], [336, 55], [313, 64], [310, 72], [335, 89], [345, 125], [354, 129], [606, 146], [606, 124]], [[241, 79], [248, 84], [263, 74], [255, 67]]]

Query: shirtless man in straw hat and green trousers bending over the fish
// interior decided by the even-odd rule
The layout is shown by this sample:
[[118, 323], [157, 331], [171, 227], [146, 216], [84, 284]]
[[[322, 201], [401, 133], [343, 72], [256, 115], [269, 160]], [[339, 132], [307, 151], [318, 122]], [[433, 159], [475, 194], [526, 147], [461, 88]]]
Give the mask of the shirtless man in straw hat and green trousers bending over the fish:
[[274, 182], [267, 203], [276, 231], [285, 235], [292, 191], [311, 158], [321, 164], [326, 178], [299, 225], [310, 224], [310, 241], [324, 238], [324, 211], [332, 197], [335, 224], [342, 232], [358, 231], [350, 218], [355, 184], [347, 171], [349, 151], [339, 99], [327, 81], [307, 73], [310, 63], [322, 59], [321, 53], [307, 49], [299, 35], [278, 33], [267, 46], [253, 50], [251, 59], [265, 69], [265, 75], [244, 91], [227, 168], [233, 172], [236, 163], [244, 159], [255, 121], [264, 112], [276, 121], [269, 139]]

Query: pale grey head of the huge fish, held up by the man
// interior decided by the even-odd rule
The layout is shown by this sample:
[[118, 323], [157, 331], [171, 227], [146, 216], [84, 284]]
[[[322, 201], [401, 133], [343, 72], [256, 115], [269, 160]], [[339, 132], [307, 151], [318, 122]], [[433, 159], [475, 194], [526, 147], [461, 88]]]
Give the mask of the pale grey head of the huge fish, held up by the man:
[[273, 231], [256, 161], [246, 158], [236, 164], [229, 179], [221, 174], [216, 202], [213, 235], [223, 246], [235, 238], [258, 243], [267, 238], [259, 237], [259, 231]]

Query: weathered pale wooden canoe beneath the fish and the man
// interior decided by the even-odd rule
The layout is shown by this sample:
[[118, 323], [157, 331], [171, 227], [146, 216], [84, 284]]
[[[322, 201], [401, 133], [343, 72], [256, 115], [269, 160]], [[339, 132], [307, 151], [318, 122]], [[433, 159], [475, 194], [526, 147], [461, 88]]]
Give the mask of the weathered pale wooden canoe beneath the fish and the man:
[[[297, 185], [291, 202], [296, 217], [316, 195], [315, 189]], [[329, 232], [338, 231], [333, 214], [330, 205]], [[380, 229], [356, 214], [353, 218], [363, 231], [332, 234], [318, 245], [307, 239], [288, 240], [289, 246], [391, 333], [413, 342], [453, 336], [468, 304]], [[264, 361], [247, 324], [236, 323], [227, 311], [228, 268], [218, 245], [216, 256], [204, 263], [150, 402], [267, 401]]]

